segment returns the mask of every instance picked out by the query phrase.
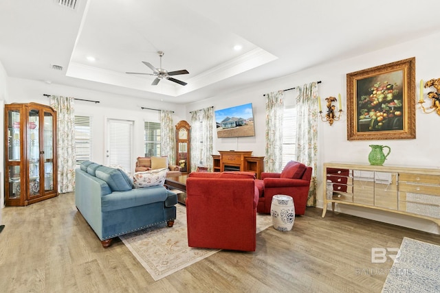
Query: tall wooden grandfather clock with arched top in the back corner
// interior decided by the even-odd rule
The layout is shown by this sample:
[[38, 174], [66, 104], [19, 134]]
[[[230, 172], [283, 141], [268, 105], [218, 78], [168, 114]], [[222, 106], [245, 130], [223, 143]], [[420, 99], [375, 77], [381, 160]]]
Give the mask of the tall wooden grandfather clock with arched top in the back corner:
[[190, 124], [181, 120], [176, 125], [176, 165], [179, 165], [182, 174], [190, 172]]

